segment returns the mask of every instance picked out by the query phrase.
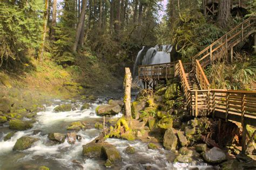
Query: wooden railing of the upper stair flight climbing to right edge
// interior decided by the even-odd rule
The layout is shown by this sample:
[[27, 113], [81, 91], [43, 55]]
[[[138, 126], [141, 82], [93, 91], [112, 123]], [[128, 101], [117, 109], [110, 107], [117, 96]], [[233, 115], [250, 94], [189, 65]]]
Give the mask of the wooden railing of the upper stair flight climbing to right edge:
[[246, 37], [250, 36], [254, 32], [255, 17], [250, 17], [244, 22], [233, 28], [230, 32], [226, 33], [223, 37], [216, 40], [214, 43], [206, 47], [192, 58], [195, 62], [198, 59], [202, 67], [207, 66], [211, 61], [218, 58], [218, 53], [221, 50], [228, 50], [233, 46], [240, 43]]

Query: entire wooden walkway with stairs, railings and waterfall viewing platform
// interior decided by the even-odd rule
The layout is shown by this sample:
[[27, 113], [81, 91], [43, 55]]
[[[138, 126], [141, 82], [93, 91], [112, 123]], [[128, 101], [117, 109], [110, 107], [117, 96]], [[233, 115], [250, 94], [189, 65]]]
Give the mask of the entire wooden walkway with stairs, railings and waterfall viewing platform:
[[[139, 79], [145, 88], [154, 88], [156, 82], [174, 77], [180, 79], [185, 94], [186, 108], [194, 117], [212, 115], [216, 118], [238, 121], [242, 124], [242, 152], [245, 153], [250, 143], [254, 149], [254, 135], [246, 130], [246, 125], [256, 126], [256, 91], [210, 89], [210, 83], [205, 76], [203, 67], [221, 57], [221, 51], [231, 50], [245, 38], [255, 33], [255, 17], [246, 19], [226, 35], [206, 47], [198, 55], [192, 57], [191, 63], [182, 63], [181, 60], [172, 63], [139, 66]], [[250, 139], [246, 143], [246, 136]]]

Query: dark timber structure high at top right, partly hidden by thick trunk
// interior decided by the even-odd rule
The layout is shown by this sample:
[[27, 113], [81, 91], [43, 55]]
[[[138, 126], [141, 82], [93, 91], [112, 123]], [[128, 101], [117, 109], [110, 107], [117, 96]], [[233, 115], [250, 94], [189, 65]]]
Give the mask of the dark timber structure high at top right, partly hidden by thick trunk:
[[[231, 0], [231, 9], [246, 8], [246, 0]], [[215, 15], [218, 13], [220, 0], [203, 0], [204, 15]]]

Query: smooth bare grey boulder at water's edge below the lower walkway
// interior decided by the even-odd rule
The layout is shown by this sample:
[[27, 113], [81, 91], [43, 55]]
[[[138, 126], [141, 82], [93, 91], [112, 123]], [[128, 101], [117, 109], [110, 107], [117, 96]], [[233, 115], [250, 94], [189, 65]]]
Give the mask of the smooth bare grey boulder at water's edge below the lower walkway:
[[220, 164], [221, 162], [227, 160], [226, 154], [217, 147], [213, 147], [203, 153], [203, 158], [210, 164]]

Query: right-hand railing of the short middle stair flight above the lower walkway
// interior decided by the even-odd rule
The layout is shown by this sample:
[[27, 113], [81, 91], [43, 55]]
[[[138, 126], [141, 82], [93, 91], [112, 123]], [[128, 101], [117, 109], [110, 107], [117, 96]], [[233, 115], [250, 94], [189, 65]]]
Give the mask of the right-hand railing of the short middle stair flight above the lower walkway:
[[201, 86], [201, 89], [208, 90], [210, 87], [210, 83], [206, 78], [205, 72], [202, 69], [198, 60], [196, 60], [196, 62], [194, 63], [193, 70], [194, 70], [194, 73], [196, 74], [196, 78], [198, 80], [199, 85]]

